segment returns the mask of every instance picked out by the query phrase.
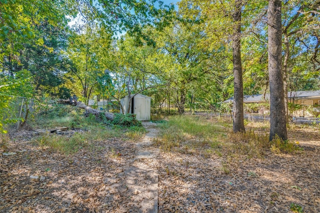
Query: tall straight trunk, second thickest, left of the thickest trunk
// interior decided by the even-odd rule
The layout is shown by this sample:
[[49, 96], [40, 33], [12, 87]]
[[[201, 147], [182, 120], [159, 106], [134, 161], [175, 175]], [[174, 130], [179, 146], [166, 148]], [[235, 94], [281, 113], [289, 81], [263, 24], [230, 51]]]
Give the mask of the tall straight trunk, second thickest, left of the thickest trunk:
[[234, 76], [234, 98], [233, 98], [233, 132], [244, 132], [243, 122], [243, 82], [241, 65], [241, 6], [242, 0], [235, 0], [235, 11], [233, 14], [234, 33], [232, 36], [233, 51], [233, 76]]

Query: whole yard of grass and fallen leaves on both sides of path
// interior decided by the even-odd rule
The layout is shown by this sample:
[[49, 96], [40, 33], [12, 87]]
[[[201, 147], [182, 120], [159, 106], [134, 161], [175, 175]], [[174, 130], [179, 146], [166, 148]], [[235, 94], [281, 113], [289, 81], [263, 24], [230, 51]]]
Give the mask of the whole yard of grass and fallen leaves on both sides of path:
[[[142, 127], [101, 125], [65, 111], [2, 136], [0, 212], [143, 212], [143, 190], [132, 191], [125, 172], [142, 161], [158, 174], [161, 213], [320, 209], [319, 126], [290, 126], [282, 145], [267, 141], [266, 123], [232, 134], [222, 118], [169, 117], [153, 121], [158, 133], [148, 149], [158, 150], [156, 157], [137, 160]], [[71, 124], [63, 134], [44, 132]], [[147, 184], [137, 175], [135, 184]]]

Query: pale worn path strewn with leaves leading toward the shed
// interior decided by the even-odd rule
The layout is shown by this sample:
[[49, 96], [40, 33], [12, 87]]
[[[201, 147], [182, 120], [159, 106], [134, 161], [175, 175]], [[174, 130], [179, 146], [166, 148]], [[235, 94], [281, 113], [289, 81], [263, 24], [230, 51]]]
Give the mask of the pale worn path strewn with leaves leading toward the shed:
[[132, 167], [124, 171], [126, 186], [133, 192], [134, 203], [139, 205], [141, 213], [157, 213], [158, 210], [158, 150], [152, 147], [152, 139], [157, 133], [155, 124], [142, 122], [148, 133], [136, 144], [137, 154]]

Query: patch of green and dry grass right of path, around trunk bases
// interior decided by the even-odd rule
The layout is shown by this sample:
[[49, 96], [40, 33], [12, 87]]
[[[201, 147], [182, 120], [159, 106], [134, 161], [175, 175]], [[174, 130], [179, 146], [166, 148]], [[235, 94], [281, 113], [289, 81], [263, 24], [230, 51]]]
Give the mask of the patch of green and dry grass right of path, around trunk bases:
[[[301, 151], [294, 142], [275, 137], [269, 141], [267, 127], [264, 131], [249, 130], [246, 133], [232, 133], [231, 122], [219, 118], [170, 117], [159, 124], [161, 131], [156, 144], [166, 152], [200, 152], [206, 156], [236, 158], [263, 158], [267, 152], [274, 154]], [[223, 170], [227, 171], [226, 166]]]

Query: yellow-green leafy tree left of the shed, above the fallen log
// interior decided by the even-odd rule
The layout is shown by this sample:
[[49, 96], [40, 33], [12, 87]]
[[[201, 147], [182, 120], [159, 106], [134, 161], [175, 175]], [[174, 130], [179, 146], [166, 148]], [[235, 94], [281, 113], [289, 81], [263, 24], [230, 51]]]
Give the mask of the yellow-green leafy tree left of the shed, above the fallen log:
[[93, 23], [82, 33], [74, 34], [66, 52], [72, 62], [66, 76], [67, 86], [77, 95], [81, 94], [86, 104], [96, 89], [97, 77], [104, 73], [102, 57], [108, 51], [110, 42], [110, 34]]

